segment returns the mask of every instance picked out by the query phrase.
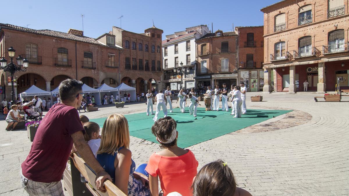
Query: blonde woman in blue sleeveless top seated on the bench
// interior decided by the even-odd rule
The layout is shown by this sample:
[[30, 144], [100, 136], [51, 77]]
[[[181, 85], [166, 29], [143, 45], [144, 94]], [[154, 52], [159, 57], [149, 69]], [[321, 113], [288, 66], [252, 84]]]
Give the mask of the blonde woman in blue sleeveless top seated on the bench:
[[125, 116], [110, 115], [103, 125], [97, 160], [126, 195], [150, 195], [148, 173], [144, 171], [146, 164], [135, 170], [128, 148], [129, 130]]

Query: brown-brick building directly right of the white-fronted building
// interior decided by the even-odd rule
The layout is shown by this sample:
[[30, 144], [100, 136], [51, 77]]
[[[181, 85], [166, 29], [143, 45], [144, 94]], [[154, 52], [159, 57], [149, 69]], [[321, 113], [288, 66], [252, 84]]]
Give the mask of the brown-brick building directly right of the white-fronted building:
[[222, 86], [227, 83], [236, 85], [238, 81], [237, 48], [238, 36], [236, 32], [207, 33], [196, 39], [196, 61], [198, 62], [197, 76], [195, 77], [198, 88]]

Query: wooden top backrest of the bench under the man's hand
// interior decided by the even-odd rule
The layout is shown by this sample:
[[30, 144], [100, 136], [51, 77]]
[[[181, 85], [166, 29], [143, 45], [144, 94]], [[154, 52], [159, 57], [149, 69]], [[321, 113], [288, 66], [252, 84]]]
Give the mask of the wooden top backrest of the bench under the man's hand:
[[[80, 173], [85, 177], [85, 179], [89, 182], [87, 186], [91, 193], [93, 195], [110, 195], [110, 196], [126, 196], [115, 184], [113, 184], [110, 180], [107, 180], [104, 182], [104, 187], [106, 188], [106, 193], [102, 193], [101, 191], [97, 190], [95, 179], [96, 174], [95, 172], [85, 163], [85, 161], [77, 156], [76, 153], [73, 153], [73, 161], [75, 167], [80, 171]], [[71, 164], [71, 163], [70, 163]], [[92, 189], [92, 188], [93, 189]]]

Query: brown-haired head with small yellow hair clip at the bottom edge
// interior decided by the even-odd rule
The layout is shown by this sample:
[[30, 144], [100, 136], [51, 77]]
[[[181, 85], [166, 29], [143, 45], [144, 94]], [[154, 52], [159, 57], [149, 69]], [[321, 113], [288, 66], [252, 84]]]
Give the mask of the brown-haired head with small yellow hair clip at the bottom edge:
[[194, 178], [192, 189], [195, 196], [252, 196], [236, 187], [231, 169], [222, 160], [203, 166]]

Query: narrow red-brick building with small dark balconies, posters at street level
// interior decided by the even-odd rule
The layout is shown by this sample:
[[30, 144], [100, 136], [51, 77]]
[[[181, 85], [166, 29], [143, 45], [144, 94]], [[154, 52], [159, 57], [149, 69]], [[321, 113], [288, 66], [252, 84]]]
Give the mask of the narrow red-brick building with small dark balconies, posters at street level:
[[236, 27], [238, 34], [238, 82], [244, 82], [247, 91], [262, 91], [264, 85], [263, 26]]

